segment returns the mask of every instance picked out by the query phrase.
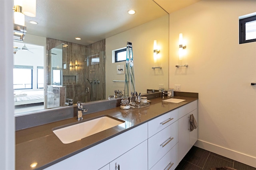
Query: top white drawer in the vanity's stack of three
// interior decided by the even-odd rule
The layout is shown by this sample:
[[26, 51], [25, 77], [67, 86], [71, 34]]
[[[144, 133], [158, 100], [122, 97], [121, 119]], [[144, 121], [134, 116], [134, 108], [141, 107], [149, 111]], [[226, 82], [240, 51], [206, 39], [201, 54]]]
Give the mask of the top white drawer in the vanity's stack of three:
[[148, 138], [178, 120], [178, 109], [170, 111], [148, 122]]

